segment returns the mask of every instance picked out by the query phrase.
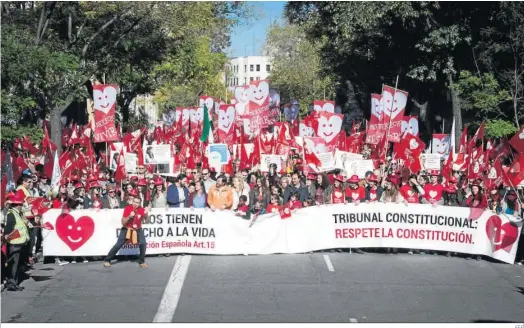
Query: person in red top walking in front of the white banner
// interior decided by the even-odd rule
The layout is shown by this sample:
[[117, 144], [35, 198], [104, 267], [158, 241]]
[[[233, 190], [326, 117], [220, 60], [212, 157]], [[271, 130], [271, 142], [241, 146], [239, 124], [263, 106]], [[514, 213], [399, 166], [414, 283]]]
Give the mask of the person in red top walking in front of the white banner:
[[122, 228], [120, 229], [118, 240], [104, 259], [104, 267], [110, 267], [111, 259], [115, 257], [116, 253], [118, 253], [126, 242], [130, 241], [133, 244], [138, 243], [140, 249], [138, 264], [143, 269], [147, 268], [147, 264], [145, 263], [147, 243], [144, 230], [142, 229], [142, 223], [146, 223], [147, 213], [150, 212], [151, 208], [140, 207], [142, 200], [138, 197], [138, 191], [136, 189], [129, 191], [128, 202], [130, 205], [124, 208], [124, 213], [122, 214]]

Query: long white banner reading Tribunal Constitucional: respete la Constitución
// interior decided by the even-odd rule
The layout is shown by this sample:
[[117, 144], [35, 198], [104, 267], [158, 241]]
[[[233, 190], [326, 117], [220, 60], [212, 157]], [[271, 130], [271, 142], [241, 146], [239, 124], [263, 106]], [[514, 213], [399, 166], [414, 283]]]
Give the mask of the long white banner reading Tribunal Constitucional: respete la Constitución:
[[[51, 209], [44, 256], [102, 256], [116, 243], [123, 210]], [[491, 211], [424, 204], [337, 204], [250, 221], [231, 211], [153, 209], [144, 224], [147, 254], [276, 254], [394, 247], [486, 255], [513, 263], [522, 220]], [[120, 255], [138, 254], [127, 245]]]

